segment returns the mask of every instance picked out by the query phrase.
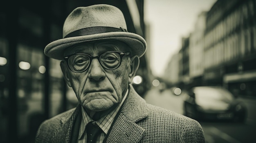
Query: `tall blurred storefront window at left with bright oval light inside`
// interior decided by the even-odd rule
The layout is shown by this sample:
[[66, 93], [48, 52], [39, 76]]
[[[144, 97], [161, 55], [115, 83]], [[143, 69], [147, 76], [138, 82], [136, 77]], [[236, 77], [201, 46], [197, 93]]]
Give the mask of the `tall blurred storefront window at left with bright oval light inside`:
[[44, 66], [43, 53], [33, 47], [18, 44], [18, 136], [29, 138], [43, 119]]

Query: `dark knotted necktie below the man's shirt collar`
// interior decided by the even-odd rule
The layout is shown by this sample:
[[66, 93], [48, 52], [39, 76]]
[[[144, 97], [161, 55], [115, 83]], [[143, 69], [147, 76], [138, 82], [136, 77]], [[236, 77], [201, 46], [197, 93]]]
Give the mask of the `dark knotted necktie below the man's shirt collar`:
[[97, 136], [101, 133], [101, 128], [92, 122], [86, 125], [87, 143], [96, 143]]

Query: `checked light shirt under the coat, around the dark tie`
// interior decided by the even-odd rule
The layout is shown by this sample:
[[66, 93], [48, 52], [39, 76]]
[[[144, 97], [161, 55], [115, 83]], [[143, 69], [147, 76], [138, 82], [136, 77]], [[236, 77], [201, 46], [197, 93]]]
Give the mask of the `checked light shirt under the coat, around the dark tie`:
[[101, 119], [98, 121], [93, 121], [90, 116], [85, 112], [85, 110], [82, 107], [82, 120], [81, 120], [81, 125], [79, 129], [79, 134], [78, 134], [78, 143], [86, 143], [87, 141], [87, 133], [85, 130], [85, 126], [92, 121], [93, 124], [97, 124], [103, 132], [97, 137], [96, 143], [103, 143], [103, 140], [105, 139], [106, 135], [108, 134], [108, 130], [110, 129], [110, 126], [112, 125], [115, 116], [117, 115], [117, 112], [121, 108], [122, 104], [124, 103], [124, 100], [126, 99], [128, 95], [128, 90], [126, 91], [126, 94], [124, 95], [123, 100], [117, 106], [117, 108], [113, 111], [111, 111], [109, 114], [103, 116]]

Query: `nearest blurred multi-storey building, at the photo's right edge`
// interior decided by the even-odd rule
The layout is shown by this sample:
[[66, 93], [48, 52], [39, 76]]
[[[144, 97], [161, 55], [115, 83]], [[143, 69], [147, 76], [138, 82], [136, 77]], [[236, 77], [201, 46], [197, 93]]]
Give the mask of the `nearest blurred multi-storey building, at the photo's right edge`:
[[204, 39], [206, 84], [256, 96], [256, 1], [218, 0], [207, 15]]

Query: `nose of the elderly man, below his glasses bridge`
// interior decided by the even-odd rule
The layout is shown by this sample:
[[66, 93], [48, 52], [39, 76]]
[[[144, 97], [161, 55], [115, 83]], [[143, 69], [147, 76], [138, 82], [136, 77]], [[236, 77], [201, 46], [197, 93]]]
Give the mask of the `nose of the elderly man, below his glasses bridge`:
[[92, 59], [92, 63], [89, 67], [88, 78], [92, 81], [101, 81], [105, 79], [106, 74], [103, 72], [103, 68], [98, 59]]

